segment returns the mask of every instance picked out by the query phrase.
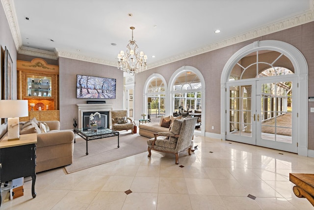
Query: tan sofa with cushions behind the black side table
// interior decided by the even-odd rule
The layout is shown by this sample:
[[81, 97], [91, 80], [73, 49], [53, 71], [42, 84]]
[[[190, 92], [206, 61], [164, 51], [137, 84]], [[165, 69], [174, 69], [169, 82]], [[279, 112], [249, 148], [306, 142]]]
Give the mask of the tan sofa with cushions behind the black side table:
[[[46, 123], [49, 130], [47, 133], [42, 133], [37, 127], [26, 132], [24, 130], [21, 133], [26, 122], [20, 122], [21, 134], [37, 133], [36, 173], [72, 164], [74, 132], [72, 130], [60, 130], [59, 121], [39, 122]], [[1, 133], [3, 133], [1, 140], [7, 136], [6, 131], [7, 127], [1, 127]]]

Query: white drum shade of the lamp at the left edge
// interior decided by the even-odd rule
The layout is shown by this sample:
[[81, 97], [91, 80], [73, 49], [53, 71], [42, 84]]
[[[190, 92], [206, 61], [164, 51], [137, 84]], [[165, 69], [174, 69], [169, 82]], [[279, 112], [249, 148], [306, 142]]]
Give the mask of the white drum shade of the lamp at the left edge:
[[27, 116], [27, 100], [0, 100], [0, 118], [19, 118]]

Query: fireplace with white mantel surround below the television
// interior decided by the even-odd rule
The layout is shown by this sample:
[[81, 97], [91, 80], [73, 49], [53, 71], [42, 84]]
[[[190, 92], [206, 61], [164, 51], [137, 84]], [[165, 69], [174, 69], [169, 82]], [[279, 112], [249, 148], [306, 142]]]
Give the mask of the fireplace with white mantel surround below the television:
[[[78, 106], [78, 128], [90, 127], [89, 116], [91, 114], [94, 114], [95, 112], [99, 112], [101, 114], [100, 123], [105, 125], [99, 126], [111, 128], [112, 104], [77, 104], [77, 106]], [[97, 115], [95, 116], [95, 120], [98, 120]]]

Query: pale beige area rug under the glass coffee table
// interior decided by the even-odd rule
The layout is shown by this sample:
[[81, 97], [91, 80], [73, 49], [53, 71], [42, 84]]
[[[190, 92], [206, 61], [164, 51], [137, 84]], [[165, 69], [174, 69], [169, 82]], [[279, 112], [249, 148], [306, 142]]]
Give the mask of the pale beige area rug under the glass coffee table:
[[68, 174], [101, 165], [107, 162], [129, 157], [147, 151], [147, 139], [131, 131], [121, 131], [119, 137], [108, 137], [88, 141], [88, 155], [86, 155], [86, 141], [76, 135], [74, 144], [73, 163], [65, 166]]

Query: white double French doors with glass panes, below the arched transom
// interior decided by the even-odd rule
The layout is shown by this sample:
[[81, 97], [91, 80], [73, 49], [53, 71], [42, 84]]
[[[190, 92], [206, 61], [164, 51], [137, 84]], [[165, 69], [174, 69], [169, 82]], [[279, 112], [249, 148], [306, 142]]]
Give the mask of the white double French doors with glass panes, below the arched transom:
[[278, 77], [228, 83], [226, 139], [297, 152], [296, 84]]

